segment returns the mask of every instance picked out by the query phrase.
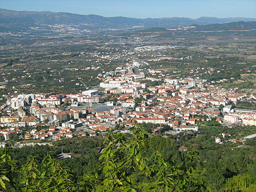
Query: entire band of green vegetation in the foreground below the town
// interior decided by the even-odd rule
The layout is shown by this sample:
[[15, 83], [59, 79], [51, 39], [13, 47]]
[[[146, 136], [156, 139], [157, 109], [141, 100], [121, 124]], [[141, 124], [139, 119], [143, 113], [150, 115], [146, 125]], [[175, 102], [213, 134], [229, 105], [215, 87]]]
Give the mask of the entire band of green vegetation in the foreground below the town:
[[[253, 191], [255, 189], [255, 158], [251, 158], [255, 154], [255, 141], [248, 143], [253, 146], [246, 151], [228, 145], [217, 147], [209, 141], [206, 143], [194, 141], [193, 145], [199, 145], [204, 149], [196, 151], [191, 147], [185, 152], [183, 149], [177, 150], [174, 139], [148, 136], [139, 124], [131, 131], [132, 134], [129, 135], [110, 132], [104, 140], [87, 137], [79, 147], [80, 150], [88, 147], [82, 152], [84, 156], [70, 160], [56, 160], [54, 157], [60, 148], [51, 153], [53, 148], [49, 146], [27, 147], [14, 151], [9, 148], [1, 149], [1, 190]], [[74, 151], [72, 148], [77, 150], [77, 143], [69, 143], [67, 140], [61, 142], [62, 144], [57, 145], [63, 146], [65, 143], [65, 148], [71, 151]], [[27, 157], [28, 154], [34, 156]], [[23, 158], [27, 160], [24, 161]]]

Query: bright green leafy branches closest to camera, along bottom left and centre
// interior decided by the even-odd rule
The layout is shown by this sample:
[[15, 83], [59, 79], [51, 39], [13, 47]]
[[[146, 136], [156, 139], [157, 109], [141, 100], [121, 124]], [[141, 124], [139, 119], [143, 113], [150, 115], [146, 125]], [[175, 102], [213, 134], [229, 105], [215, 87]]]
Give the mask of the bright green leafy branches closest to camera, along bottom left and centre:
[[1, 149], [3, 191], [204, 191], [204, 172], [196, 170], [199, 155], [190, 151], [180, 165], [167, 162], [159, 151], [148, 157], [148, 135], [137, 125], [132, 135], [110, 132], [92, 173], [74, 180], [69, 168], [51, 155], [30, 156], [22, 165]]

